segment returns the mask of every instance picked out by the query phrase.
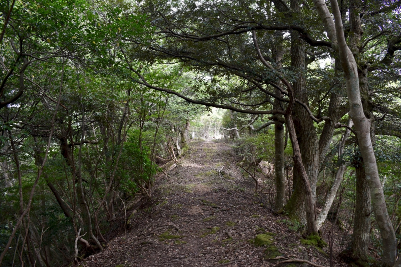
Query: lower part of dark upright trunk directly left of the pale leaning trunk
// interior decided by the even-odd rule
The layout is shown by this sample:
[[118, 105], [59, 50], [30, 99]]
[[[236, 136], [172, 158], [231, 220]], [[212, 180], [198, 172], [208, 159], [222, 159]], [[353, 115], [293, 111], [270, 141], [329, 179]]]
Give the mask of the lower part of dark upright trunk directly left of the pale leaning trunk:
[[363, 162], [355, 165], [356, 203], [351, 255], [356, 259], [367, 259], [370, 233], [370, 190], [367, 185]]

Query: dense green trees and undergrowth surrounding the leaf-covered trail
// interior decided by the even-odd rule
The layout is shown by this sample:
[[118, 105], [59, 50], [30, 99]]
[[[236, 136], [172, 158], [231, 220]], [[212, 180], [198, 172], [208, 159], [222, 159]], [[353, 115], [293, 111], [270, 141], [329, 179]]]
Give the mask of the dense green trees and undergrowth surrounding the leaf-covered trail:
[[78, 266], [212, 137], [297, 234], [330, 243], [332, 225], [344, 260], [401, 265], [401, 2], [0, 10], [0, 265]]

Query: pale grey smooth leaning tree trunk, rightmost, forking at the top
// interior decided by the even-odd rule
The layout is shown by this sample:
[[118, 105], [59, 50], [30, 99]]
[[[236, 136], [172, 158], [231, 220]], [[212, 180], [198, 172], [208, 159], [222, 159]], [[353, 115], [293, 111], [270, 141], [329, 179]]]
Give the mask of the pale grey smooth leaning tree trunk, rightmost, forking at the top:
[[[350, 106], [348, 114], [355, 124], [359, 149], [365, 167], [366, 180], [371, 193], [374, 215], [383, 241], [383, 265], [392, 266], [395, 263], [396, 257], [396, 238], [391, 220], [387, 213], [383, 188], [381, 187], [378, 175], [376, 157], [370, 138], [370, 121], [365, 117], [362, 108], [357, 65], [345, 41], [342, 18], [337, 0], [330, 0], [334, 14], [334, 22], [328, 19], [331, 16], [323, 0], [314, 0], [313, 2], [318, 9], [327, 35], [333, 43], [333, 48], [338, 50], [339, 53], [342, 69], [344, 70], [347, 97]], [[333, 35], [333, 33], [335, 33], [335, 35]], [[336, 46], [336, 43], [338, 43], [338, 46]]]

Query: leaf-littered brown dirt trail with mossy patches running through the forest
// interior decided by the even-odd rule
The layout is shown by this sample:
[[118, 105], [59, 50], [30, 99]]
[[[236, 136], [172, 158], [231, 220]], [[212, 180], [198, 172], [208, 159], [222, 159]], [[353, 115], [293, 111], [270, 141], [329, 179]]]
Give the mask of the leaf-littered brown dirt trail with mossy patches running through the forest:
[[[287, 217], [261, 205], [253, 180], [244, 178], [237, 166], [240, 160], [229, 144], [191, 142], [178, 166], [169, 169], [167, 177], [162, 174], [153, 204], [127, 213], [131, 226], [126, 237], [122, 226], [122, 233], [83, 265], [273, 266], [277, 260], [269, 258], [282, 255], [307, 256], [329, 266], [323, 251], [300, 243]], [[222, 166], [223, 178], [218, 172]], [[263, 233], [270, 244], [255, 246], [251, 239]]]

